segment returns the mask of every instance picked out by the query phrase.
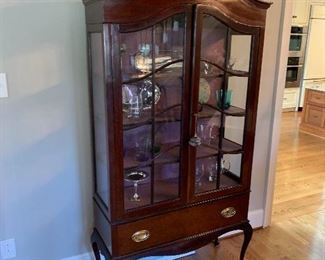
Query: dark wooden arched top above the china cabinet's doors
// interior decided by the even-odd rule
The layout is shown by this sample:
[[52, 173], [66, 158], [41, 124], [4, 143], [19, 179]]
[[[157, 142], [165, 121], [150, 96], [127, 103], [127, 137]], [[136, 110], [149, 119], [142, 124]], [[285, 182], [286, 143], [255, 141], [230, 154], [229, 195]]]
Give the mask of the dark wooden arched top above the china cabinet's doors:
[[270, 2], [262, 0], [84, 0], [87, 23], [136, 24], [159, 20], [188, 5], [206, 5], [236, 23], [264, 27]]

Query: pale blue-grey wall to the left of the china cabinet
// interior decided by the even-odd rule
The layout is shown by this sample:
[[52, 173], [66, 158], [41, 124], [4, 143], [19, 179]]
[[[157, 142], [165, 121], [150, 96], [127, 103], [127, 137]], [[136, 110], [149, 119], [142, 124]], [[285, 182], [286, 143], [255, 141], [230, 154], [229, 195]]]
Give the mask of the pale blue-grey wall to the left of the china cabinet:
[[81, 1], [0, 1], [0, 240], [16, 239], [19, 260], [89, 250], [85, 31]]

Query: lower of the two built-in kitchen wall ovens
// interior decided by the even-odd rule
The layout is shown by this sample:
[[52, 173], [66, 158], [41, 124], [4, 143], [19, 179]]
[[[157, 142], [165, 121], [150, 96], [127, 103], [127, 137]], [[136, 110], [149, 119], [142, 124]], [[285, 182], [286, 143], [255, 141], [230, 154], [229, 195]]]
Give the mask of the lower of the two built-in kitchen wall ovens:
[[299, 88], [303, 74], [303, 57], [289, 57], [286, 76], [286, 88]]

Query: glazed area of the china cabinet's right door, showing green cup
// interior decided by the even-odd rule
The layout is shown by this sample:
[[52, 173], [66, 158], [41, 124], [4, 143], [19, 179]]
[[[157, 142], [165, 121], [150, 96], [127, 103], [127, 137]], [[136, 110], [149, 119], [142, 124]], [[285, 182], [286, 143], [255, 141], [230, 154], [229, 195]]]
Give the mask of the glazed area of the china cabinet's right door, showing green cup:
[[238, 187], [250, 79], [252, 35], [239, 33], [214, 15], [198, 14], [190, 145], [196, 195]]

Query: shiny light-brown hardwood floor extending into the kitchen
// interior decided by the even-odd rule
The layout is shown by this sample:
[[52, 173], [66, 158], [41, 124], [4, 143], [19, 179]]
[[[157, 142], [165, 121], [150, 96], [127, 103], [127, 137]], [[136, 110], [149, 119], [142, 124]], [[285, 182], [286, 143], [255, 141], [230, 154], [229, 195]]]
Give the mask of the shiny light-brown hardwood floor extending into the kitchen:
[[[254, 231], [245, 259], [325, 260], [325, 140], [299, 132], [284, 113], [272, 224]], [[208, 245], [186, 260], [239, 259], [242, 236]]]

